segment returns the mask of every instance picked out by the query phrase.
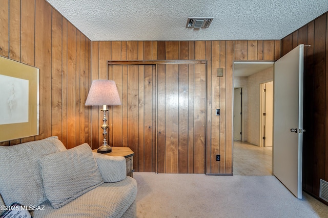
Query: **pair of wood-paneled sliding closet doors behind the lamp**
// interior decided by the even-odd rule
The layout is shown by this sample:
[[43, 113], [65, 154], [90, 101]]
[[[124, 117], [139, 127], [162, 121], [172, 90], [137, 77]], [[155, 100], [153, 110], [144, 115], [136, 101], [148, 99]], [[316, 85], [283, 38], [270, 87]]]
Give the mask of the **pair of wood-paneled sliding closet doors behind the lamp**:
[[133, 150], [136, 172], [205, 173], [206, 61], [165, 62], [109, 62], [122, 100], [109, 143]]

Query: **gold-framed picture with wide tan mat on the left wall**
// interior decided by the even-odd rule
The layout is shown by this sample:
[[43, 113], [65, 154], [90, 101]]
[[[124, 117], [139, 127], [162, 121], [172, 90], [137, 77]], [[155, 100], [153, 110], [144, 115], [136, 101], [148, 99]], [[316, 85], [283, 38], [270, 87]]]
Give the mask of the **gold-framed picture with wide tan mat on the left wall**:
[[39, 134], [39, 69], [0, 57], [0, 141]]

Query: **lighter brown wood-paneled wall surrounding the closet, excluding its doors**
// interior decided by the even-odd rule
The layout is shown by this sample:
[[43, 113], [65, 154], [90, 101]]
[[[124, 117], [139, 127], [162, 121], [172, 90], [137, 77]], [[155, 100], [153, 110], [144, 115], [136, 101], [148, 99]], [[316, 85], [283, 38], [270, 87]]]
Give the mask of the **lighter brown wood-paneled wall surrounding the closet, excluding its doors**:
[[[0, 55], [40, 69], [40, 135], [1, 145], [58, 135], [67, 148], [88, 142], [95, 149], [103, 137], [102, 117], [98, 107], [84, 103], [91, 80], [107, 79], [108, 60], [207, 60], [202, 161], [207, 174], [232, 174], [233, 61], [277, 60], [280, 40], [91, 42], [45, 0], [0, 0], [0, 5]], [[224, 69], [223, 77], [216, 77], [216, 68]]]

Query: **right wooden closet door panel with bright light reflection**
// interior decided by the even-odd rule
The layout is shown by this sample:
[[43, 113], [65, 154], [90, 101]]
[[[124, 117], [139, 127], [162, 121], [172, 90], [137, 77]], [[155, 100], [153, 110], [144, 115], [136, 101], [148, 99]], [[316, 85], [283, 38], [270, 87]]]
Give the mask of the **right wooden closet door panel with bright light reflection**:
[[157, 173], [205, 173], [206, 64], [157, 66]]

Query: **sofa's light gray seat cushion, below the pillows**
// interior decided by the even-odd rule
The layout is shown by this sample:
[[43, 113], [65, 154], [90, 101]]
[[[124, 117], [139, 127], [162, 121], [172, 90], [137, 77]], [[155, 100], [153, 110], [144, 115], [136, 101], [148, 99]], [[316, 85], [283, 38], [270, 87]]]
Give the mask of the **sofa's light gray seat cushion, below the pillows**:
[[44, 210], [32, 211], [32, 215], [34, 218], [136, 217], [136, 195], [136, 181], [128, 176], [120, 182], [103, 183], [58, 209], [46, 201], [42, 203]]

